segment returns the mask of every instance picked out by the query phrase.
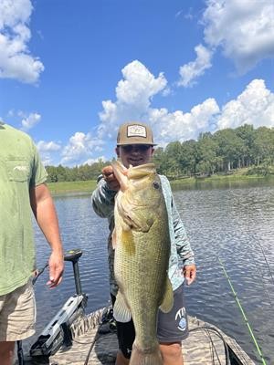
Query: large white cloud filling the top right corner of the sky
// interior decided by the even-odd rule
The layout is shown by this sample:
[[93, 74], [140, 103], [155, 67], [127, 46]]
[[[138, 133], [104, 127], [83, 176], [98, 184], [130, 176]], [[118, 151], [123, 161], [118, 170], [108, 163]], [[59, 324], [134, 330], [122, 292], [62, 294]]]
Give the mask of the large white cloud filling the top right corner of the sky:
[[206, 4], [205, 42], [209, 47], [222, 47], [239, 72], [274, 56], [272, 0], [208, 0]]

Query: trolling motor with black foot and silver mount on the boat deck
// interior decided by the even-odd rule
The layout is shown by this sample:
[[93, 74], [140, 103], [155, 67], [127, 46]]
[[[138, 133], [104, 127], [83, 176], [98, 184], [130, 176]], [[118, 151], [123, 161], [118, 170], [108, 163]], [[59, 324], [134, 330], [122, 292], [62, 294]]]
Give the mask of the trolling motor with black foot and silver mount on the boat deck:
[[54, 355], [64, 344], [71, 346], [70, 326], [76, 318], [83, 316], [87, 306], [88, 297], [82, 292], [78, 261], [82, 251], [79, 249], [69, 250], [65, 253], [64, 260], [70, 261], [73, 266], [76, 294], [69, 297], [57, 315], [50, 320], [43, 329], [37, 341], [31, 346], [31, 357]]

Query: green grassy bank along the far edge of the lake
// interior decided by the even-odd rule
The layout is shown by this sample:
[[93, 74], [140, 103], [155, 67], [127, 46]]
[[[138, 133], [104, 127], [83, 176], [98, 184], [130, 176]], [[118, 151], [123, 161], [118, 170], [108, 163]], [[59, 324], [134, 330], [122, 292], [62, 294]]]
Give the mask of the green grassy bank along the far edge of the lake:
[[[184, 179], [172, 180], [172, 187], [177, 187], [178, 185], [189, 185], [195, 186], [198, 184], [208, 184], [208, 183], [244, 183], [244, 182], [254, 182], [254, 181], [267, 181], [273, 183], [274, 185], [274, 175], [269, 175], [267, 177], [260, 175], [212, 175], [210, 177], [186, 177]], [[59, 183], [47, 183], [50, 192], [53, 195], [59, 194], [69, 194], [69, 193], [92, 193], [96, 188], [96, 181], [79, 181], [79, 182], [59, 182]]]

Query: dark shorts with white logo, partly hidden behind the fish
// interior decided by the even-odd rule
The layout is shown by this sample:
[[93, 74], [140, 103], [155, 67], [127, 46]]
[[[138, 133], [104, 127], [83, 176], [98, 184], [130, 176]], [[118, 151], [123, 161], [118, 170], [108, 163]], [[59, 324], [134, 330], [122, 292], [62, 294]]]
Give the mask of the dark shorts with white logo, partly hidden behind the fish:
[[[111, 296], [112, 304], [115, 297]], [[124, 357], [129, 359], [135, 330], [132, 320], [127, 323], [116, 322], [119, 349]], [[169, 313], [159, 310], [157, 324], [157, 338], [160, 343], [181, 342], [188, 336], [188, 322], [184, 308], [184, 285], [174, 291], [174, 307]]]

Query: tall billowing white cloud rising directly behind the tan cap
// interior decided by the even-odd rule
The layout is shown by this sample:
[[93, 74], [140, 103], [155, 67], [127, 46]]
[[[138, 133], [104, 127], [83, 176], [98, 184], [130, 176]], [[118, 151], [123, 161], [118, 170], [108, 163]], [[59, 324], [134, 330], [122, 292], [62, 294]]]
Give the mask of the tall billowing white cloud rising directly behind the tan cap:
[[146, 121], [153, 126], [155, 141], [164, 145], [169, 141], [195, 138], [199, 131], [211, 128], [212, 117], [219, 112], [215, 99], [206, 99], [190, 112], [169, 112], [153, 109], [153, 96], [163, 94], [167, 81], [161, 73], [158, 78], [141, 62], [133, 61], [122, 70], [123, 78], [116, 88], [116, 102], [103, 101], [100, 113], [99, 138], [115, 143], [118, 126], [126, 120]]

